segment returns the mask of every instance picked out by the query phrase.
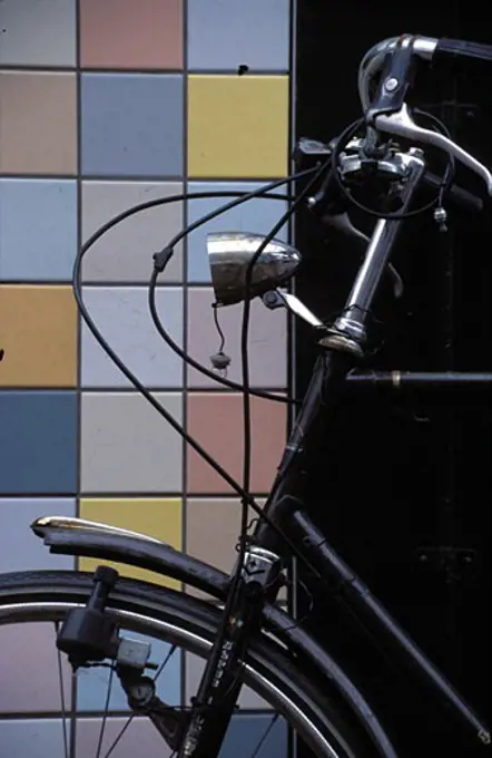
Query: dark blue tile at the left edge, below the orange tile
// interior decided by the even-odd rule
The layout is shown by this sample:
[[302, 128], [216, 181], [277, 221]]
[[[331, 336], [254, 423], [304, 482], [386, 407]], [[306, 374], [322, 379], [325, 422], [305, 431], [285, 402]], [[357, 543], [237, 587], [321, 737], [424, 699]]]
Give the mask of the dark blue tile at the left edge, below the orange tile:
[[77, 395], [0, 392], [0, 492], [77, 492]]

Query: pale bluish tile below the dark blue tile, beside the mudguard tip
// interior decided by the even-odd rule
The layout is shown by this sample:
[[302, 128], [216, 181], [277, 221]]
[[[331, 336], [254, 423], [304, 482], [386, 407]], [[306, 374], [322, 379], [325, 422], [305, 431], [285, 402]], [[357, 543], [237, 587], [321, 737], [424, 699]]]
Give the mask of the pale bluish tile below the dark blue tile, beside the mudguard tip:
[[[75, 516], [76, 501], [68, 497], [1, 497], [0, 573], [36, 568], [72, 568], [70, 555], [51, 555], [30, 524], [39, 516]], [[1, 629], [1, 628], [0, 628]]]

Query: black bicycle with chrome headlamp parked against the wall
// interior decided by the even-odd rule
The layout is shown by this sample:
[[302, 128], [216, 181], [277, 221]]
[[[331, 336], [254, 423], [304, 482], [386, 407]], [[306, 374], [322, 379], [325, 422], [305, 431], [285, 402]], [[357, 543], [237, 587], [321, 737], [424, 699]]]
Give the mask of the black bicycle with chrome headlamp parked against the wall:
[[[285, 307], [305, 319], [313, 327], [319, 347], [311, 385], [263, 508], [249, 496], [247, 486], [239, 486], [195, 440], [187, 438], [243, 501], [238, 560], [230, 575], [157, 540], [110, 525], [57, 516], [40, 517], [31, 525], [52, 553], [90, 556], [147, 568], [205, 591], [215, 602], [160, 585], [121, 579], [105, 565], [100, 565], [94, 575], [53, 571], [0, 576], [0, 624], [46, 622], [55, 625], [65, 758], [73, 755], [77, 745], [80, 749], [77, 730], [81, 729], [79, 735], [82, 733], [83, 723], [80, 727], [75, 720], [73, 709], [70, 716], [67, 713], [69, 693], [66, 694], [67, 688], [63, 687], [62, 653], [76, 672], [86, 667], [101, 665], [107, 667], [110, 683], [116, 678], [119, 680], [130, 708], [121, 733], [132, 720], [139, 722], [140, 717], [147, 717], [161, 738], [161, 748], [156, 748], [156, 756], [218, 756], [244, 686], [277, 711], [270, 720], [274, 727], [268, 726], [266, 736], [259, 739], [259, 748], [252, 750], [253, 756], [259, 755], [268, 731], [279, 723], [278, 715], [316, 756], [401, 756], [384, 723], [329, 651], [304, 631], [302, 620], [291, 618], [276, 604], [279, 589], [286, 582], [286, 567], [293, 557], [303, 562], [317, 580], [324, 580], [325, 590], [336, 589], [346, 602], [376, 622], [382, 638], [396, 641], [406, 658], [450, 703], [474, 740], [484, 747], [490, 746], [490, 731], [485, 723], [331, 547], [303, 502], [303, 476], [322, 434], [321, 427], [336, 405], [345, 382], [361, 378], [354, 369], [366, 357], [372, 304], [387, 273], [393, 276], [397, 294], [398, 280], [395, 270], [390, 268], [390, 255], [402, 222], [433, 208], [436, 222], [444, 224], [445, 200], [474, 211], [482, 210], [482, 198], [453, 185], [454, 161], [478, 174], [484, 181], [488, 194], [492, 195], [489, 169], [453, 143], [435, 117], [427, 116], [434, 128], [417, 125], [414, 116], [419, 111], [411, 109], [406, 103], [416, 62], [427, 65], [440, 55], [492, 60], [492, 47], [411, 35], [380, 42], [365, 55], [360, 67], [358, 89], [364, 117], [327, 145], [306, 139], [297, 145], [297, 157], [311, 157], [315, 166], [284, 181], [309, 177], [307, 186], [292, 202], [288, 214], [301, 203], [307, 203], [326, 223], [355, 236], [362, 233], [352, 225], [347, 210], [355, 204], [376, 218], [346, 307], [333, 322], [323, 323], [283, 286], [294, 275], [301, 260], [296, 250], [275, 239], [286, 217], [266, 237], [233, 233], [208, 237], [218, 304], [243, 301], [245, 308], [242, 346], [244, 386], [217, 377], [215, 372], [213, 376], [226, 386], [244, 389], [246, 428], [249, 396], [266, 395], [250, 389], [247, 382], [250, 299], [262, 297], [267, 308]], [[446, 154], [449, 163], [442, 179], [429, 172], [427, 156], [422, 146], [440, 148]], [[425, 182], [436, 190], [437, 197], [424, 207], [415, 208], [417, 191]], [[282, 184], [272, 183], [262, 191], [232, 200], [224, 207], [259, 194], [275, 197], [273, 191]], [[374, 194], [384, 200], [384, 211], [367, 208], [356, 200], [360, 185], [372, 187]], [[223, 196], [229, 195], [234, 193], [223, 193]], [[282, 197], [285, 198], [285, 195]], [[165, 202], [169, 198], [136, 206], [92, 235], [76, 261], [73, 282], [79, 309], [92, 333], [156, 410], [177, 431], [181, 431], [98, 334], [83, 304], [80, 288], [81, 257], [96, 240], [131, 213]], [[154, 301], [155, 288], [179, 239], [211, 215], [195, 223], [154, 256], [149, 308], [159, 333], [178, 352], [178, 346], [159, 321]], [[180, 354], [196, 367], [191, 358], [183, 351]], [[223, 366], [220, 360], [217, 365]], [[207, 371], [203, 367], [199, 370]], [[272, 399], [285, 401], [279, 397]], [[247, 485], [247, 448], [245, 458]], [[258, 516], [250, 535], [248, 507]], [[144, 634], [146, 639], [154, 635], [158, 641], [168, 643], [165, 661], [157, 667], [151, 660], [152, 648], [146, 639], [124, 636], [122, 630]], [[159, 678], [177, 645], [206, 661], [196, 697], [183, 708], [163, 700], [159, 691], [163, 681]], [[150, 677], [152, 670], [156, 674]], [[109, 699], [110, 694], [107, 707]], [[107, 712], [99, 736], [92, 740], [97, 758], [112, 755], [121, 739], [121, 733], [117, 735], [109, 749], [105, 748], [102, 752], [106, 716]]]

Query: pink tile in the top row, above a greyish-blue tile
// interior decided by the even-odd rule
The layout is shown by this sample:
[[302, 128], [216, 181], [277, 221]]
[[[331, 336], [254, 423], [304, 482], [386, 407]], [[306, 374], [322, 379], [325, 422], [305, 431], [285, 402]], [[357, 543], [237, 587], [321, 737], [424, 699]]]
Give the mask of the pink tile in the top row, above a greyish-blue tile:
[[80, 0], [85, 68], [183, 68], [183, 0]]

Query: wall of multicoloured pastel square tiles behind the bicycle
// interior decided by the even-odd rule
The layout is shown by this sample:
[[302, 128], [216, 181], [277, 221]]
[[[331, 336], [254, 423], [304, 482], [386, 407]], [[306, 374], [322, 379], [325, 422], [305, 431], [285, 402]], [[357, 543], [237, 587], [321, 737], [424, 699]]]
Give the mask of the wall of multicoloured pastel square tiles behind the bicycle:
[[[71, 268], [80, 242], [135, 203], [186, 190], [250, 190], [286, 175], [289, 17], [289, 0], [1, 0], [1, 571], [73, 565], [50, 556], [28, 528], [36, 516], [53, 513], [144, 531], [230, 568], [236, 499], [82, 325]], [[236, 74], [239, 65], [249, 67], [245, 76]], [[222, 202], [167, 205], [112, 230], [87, 255], [83, 294], [104, 336], [138, 378], [240, 477], [240, 395], [185, 370], [156, 334], [146, 301], [152, 253]], [[197, 230], [161, 278], [157, 303], [166, 327], [207, 366], [219, 337], [205, 234], [267, 232], [284, 211], [282, 203], [257, 200]], [[219, 318], [233, 357], [228, 376], [238, 380], [240, 307], [222, 310]], [[285, 315], [256, 301], [250, 366], [254, 386], [286, 388]], [[262, 496], [285, 439], [285, 406], [253, 400], [253, 489]], [[3, 661], [12, 660], [4, 651], [32, 648], [29, 640], [21, 647], [19, 630], [1, 634]], [[41, 648], [38, 634], [36, 650]], [[32, 661], [41, 681], [48, 678], [48, 650]], [[188, 679], [197, 676], [191, 663]], [[4, 682], [9, 672], [1, 665]], [[177, 665], [170, 686], [183, 694], [181, 680]], [[89, 710], [102, 704], [96, 703], [97, 681], [79, 686], [79, 703]], [[52, 710], [49, 687], [28, 688], [27, 694], [26, 687], [21, 678], [19, 697], [9, 691], [0, 698], [0, 756], [7, 755], [4, 745], [22, 758], [31, 755], [22, 740], [28, 745], [36, 733], [42, 745], [37, 755], [61, 758], [52, 720], [6, 718]], [[250, 736], [260, 720], [243, 717], [236, 729]], [[95, 723], [88, 719], [87, 735], [82, 730], [78, 739], [94, 739]], [[137, 754], [136, 745], [141, 751], [140, 727], [124, 758]], [[272, 752], [272, 740], [262, 756], [281, 755], [278, 741]], [[235, 758], [243, 755], [239, 744], [245, 739], [234, 746]], [[152, 750], [157, 755], [151, 747], [146, 755]]]

